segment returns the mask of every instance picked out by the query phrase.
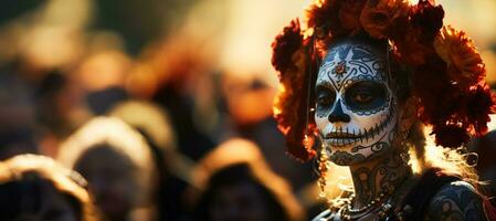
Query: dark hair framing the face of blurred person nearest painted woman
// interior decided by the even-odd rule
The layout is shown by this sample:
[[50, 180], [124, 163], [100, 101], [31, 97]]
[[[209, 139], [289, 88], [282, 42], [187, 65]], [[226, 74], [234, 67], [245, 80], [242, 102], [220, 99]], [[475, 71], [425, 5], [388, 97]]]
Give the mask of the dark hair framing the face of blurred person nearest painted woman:
[[211, 221], [209, 211], [212, 204], [212, 199], [215, 194], [218, 194], [219, 190], [224, 187], [236, 186], [245, 182], [254, 185], [263, 197], [264, 202], [266, 203], [265, 207], [270, 212], [270, 220], [289, 220], [289, 215], [287, 211], [285, 211], [282, 203], [275, 194], [264, 186], [264, 183], [256, 179], [247, 164], [235, 164], [212, 175], [209, 179], [207, 190], [200, 196], [200, 199], [194, 207], [194, 220]]

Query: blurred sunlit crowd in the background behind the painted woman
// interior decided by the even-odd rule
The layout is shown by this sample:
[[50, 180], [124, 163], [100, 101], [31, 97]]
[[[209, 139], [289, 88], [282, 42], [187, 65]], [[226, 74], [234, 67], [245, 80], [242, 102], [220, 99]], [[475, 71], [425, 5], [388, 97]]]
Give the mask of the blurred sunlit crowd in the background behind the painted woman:
[[[318, 214], [316, 162], [286, 155], [272, 118], [273, 27], [307, 3], [2, 0], [0, 220]], [[496, 33], [472, 30], [496, 80]], [[469, 145], [484, 180], [495, 139]]]

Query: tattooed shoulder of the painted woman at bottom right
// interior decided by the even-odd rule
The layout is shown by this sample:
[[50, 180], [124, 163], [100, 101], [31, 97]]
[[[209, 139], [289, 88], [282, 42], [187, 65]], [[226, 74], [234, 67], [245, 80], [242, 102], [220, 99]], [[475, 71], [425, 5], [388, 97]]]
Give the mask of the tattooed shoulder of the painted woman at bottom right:
[[487, 220], [483, 198], [466, 181], [444, 185], [431, 199], [426, 220]]

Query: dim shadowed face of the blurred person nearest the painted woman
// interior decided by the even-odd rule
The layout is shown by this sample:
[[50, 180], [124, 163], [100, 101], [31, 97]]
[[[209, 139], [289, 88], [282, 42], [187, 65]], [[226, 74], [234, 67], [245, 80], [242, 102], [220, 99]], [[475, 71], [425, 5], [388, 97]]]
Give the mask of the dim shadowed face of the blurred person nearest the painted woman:
[[211, 200], [212, 221], [268, 221], [270, 211], [261, 188], [250, 181], [221, 186]]

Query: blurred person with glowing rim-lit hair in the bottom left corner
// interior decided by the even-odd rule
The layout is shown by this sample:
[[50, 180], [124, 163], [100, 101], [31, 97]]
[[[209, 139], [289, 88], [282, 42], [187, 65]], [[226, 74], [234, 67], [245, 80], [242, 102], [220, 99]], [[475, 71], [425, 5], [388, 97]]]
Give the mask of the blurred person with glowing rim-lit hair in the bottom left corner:
[[0, 162], [0, 220], [96, 221], [86, 181], [53, 159], [19, 155]]

